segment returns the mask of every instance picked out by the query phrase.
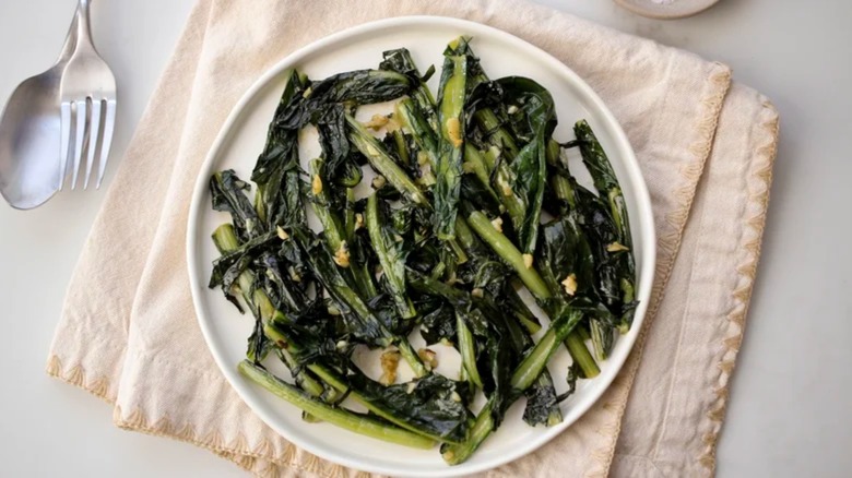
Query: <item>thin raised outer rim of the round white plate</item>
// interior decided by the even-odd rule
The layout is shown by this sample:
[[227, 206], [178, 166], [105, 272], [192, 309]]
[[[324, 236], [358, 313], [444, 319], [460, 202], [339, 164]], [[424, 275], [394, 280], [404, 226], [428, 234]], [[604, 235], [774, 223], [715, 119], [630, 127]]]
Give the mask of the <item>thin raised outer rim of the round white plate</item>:
[[[367, 34], [370, 32], [377, 32], [386, 28], [394, 28], [394, 27], [405, 26], [405, 25], [412, 25], [412, 26], [439, 25], [439, 26], [459, 27], [460, 29], [480, 32], [481, 35], [482, 34], [490, 35], [493, 37], [497, 37], [498, 39], [508, 41], [509, 44], [512, 44], [514, 47], [519, 48], [521, 51], [526, 51], [530, 55], [534, 55], [536, 57], [536, 61], [542, 63], [549, 63], [552, 67], [554, 67], [555, 70], [558, 71], [558, 73], [561, 76], [566, 77], [571, 82], [572, 87], [576, 87], [580, 91], [581, 93], [580, 96], [584, 96], [584, 99], [591, 101], [591, 106], [593, 106], [593, 108], [595, 109], [595, 113], [601, 115], [602, 118], [607, 123], [610, 123], [610, 126], [612, 127], [611, 133], [613, 135], [614, 143], [619, 144], [622, 146], [626, 146], [626, 147], [620, 147], [627, 153], [626, 157], [623, 157], [620, 160], [623, 163], [624, 169], [627, 172], [627, 176], [629, 177], [631, 187], [635, 190], [636, 203], [637, 203], [636, 207], [637, 211], [639, 212], [638, 214], [639, 217], [637, 219], [640, 223], [647, 223], [648, 226], [641, 228], [643, 265], [642, 265], [641, 274], [638, 276], [638, 280], [637, 280], [637, 289], [638, 289], [637, 298], [639, 299], [640, 303], [639, 307], [637, 308], [636, 316], [632, 326], [630, 328], [630, 332], [627, 335], [620, 336], [618, 338], [619, 342], [626, 343], [624, 352], [618, 357], [611, 357], [608, 359], [611, 367], [614, 368], [613, 373], [610, 377], [596, 379], [599, 380], [599, 383], [603, 383], [603, 386], [601, 386], [597, 392], [591, 394], [591, 399], [588, 399], [585, 403], [578, 404], [576, 408], [579, 409], [579, 413], [577, 413], [573, 420], [564, 421], [563, 423], [554, 426], [551, 429], [544, 430], [541, 437], [537, 437], [534, 440], [530, 440], [525, 444], [516, 447], [514, 451], [511, 453], [507, 453], [498, 458], [486, 461], [480, 464], [468, 464], [468, 465], [461, 464], [457, 466], [448, 466], [446, 469], [440, 469], [440, 470], [424, 471], [424, 470], [407, 469], [403, 471], [404, 475], [406, 476], [424, 477], [424, 478], [461, 476], [468, 474], [482, 473], [505, 465], [507, 463], [513, 462], [516, 459], [519, 459], [534, 452], [535, 450], [543, 446], [544, 444], [548, 443], [551, 440], [553, 440], [554, 438], [563, 433], [566, 429], [571, 427], [577, 420], [579, 420], [585, 414], [585, 411], [588, 411], [594, 404], [596, 404], [600, 401], [601, 396], [603, 396], [603, 394], [610, 390], [615, 378], [622, 373], [624, 365], [627, 361], [627, 358], [630, 357], [636, 340], [644, 323], [646, 311], [648, 309], [649, 301], [650, 301], [651, 288], [653, 285], [653, 276], [654, 276], [654, 271], [656, 265], [656, 231], [654, 227], [653, 213], [651, 208], [651, 200], [650, 200], [648, 187], [644, 181], [644, 177], [641, 174], [641, 168], [639, 167], [639, 162], [636, 157], [636, 153], [627, 138], [627, 134], [624, 132], [622, 124], [616, 120], [615, 116], [612, 113], [612, 111], [610, 111], [605, 103], [600, 98], [600, 96], [597, 96], [594, 89], [592, 89], [592, 87], [588, 83], [585, 83], [585, 81], [582, 80], [582, 77], [579, 74], [577, 74], [573, 70], [571, 70], [567, 64], [559, 61], [553, 55], [548, 53], [542, 48], [516, 35], [512, 35], [511, 33], [505, 32], [502, 29], [480, 22], [452, 17], [452, 16], [440, 16], [440, 15], [405, 15], [405, 16], [395, 16], [395, 17], [366, 22], [359, 25], [355, 25], [339, 31], [336, 33], [317, 39], [306, 46], [303, 46], [292, 51], [291, 53], [286, 55], [283, 59], [277, 61], [274, 65], [265, 70], [263, 74], [260, 75], [251, 84], [251, 86], [242, 94], [239, 100], [232, 108], [225, 122], [220, 128], [220, 131], [216, 134], [216, 138], [210, 147], [210, 151], [208, 152], [203, 163], [201, 164], [201, 167], [198, 172], [198, 177], [196, 178], [194, 189], [192, 191], [192, 195], [190, 199], [189, 215], [187, 217], [187, 237], [186, 237], [187, 266], [189, 273], [188, 275], [190, 282], [190, 292], [192, 296], [192, 304], [196, 312], [196, 319], [201, 328], [205, 345], [210, 350], [211, 355], [213, 356], [213, 359], [216, 362], [216, 366], [218, 367], [220, 371], [223, 373], [226, 381], [228, 382], [228, 385], [237, 393], [240, 399], [251, 409], [253, 414], [256, 414], [267, 426], [273, 429], [285, 440], [292, 442], [294, 445], [299, 446], [303, 450], [306, 450], [307, 452], [317, 455], [323, 459], [327, 459], [335, 464], [340, 464], [342, 466], [346, 466], [358, 470], [369, 471], [369, 473], [377, 473], [383, 475], [400, 474], [399, 469], [374, 464], [369, 461], [368, 457], [364, 459], [353, 459], [346, 456], [338, 455], [334, 452], [324, 450], [322, 447], [313, 446], [310, 443], [304, 443], [304, 440], [299, 439], [298, 433], [295, 430], [288, 430], [277, 426], [276, 420], [273, 417], [274, 414], [269, 414], [263, 406], [256, 403], [255, 398], [251, 397], [246, 391], [242, 390], [244, 387], [246, 389], [250, 387], [250, 384], [242, 381], [241, 377], [238, 374], [236, 370], [236, 365], [227, 362], [225, 359], [225, 354], [222, 350], [214, 347], [215, 344], [215, 340], [213, 339], [214, 332], [209, 326], [208, 324], [209, 321], [202, 316], [202, 313], [200, 313], [201, 311], [204, 310], [204, 307], [202, 306], [201, 292], [204, 291], [208, 287], [205, 284], [201, 284], [200, 277], [196, 275], [196, 271], [199, 270], [198, 267], [199, 251], [196, 247], [197, 246], [196, 239], [199, 238], [199, 232], [200, 232], [199, 231], [199, 226], [201, 223], [200, 214], [202, 212], [201, 207], [203, 204], [203, 198], [208, 188], [208, 182], [209, 182], [208, 178], [212, 174], [213, 166], [216, 163], [217, 157], [222, 154], [223, 146], [227, 144], [227, 141], [229, 140], [229, 136], [232, 134], [232, 131], [234, 130], [235, 124], [240, 120], [240, 117], [246, 111], [246, 108], [251, 106], [256, 96], [264, 87], [267, 87], [267, 85], [271, 81], [275, 80], [281, 74], [285, 73], [291, 68], [291, 65], [297, 64], [304, 58], [315, 53], [318, 50], [322, 50], [327, 47], [333, 46], [334, 44], [338, 44], [351, 37], [357, 37], [359, 35]], [[209, 231], [203, 231], [203, 232], [208, 234]], [[644, 287], [640, 287], [642, 285], [644, 285]]]

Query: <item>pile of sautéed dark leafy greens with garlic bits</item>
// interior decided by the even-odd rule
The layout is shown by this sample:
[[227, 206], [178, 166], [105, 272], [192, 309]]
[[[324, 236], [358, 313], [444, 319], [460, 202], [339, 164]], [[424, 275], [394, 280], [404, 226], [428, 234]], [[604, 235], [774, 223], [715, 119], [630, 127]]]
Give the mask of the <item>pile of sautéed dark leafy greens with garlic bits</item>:
[[[230, 216], [213, 231], [222, 255], [210, 287], [253, 318], [238, 366], [248, 380], [306, 421], [439, 445], [454, 465], [518, 401], [530, 426], [561, 421], [560, 402], [630, 328], [636, 266], [618, 179], [584, 120], [559, 143], [547, 89], [492, 80], [468, 37], [443, 51], [436, 92], [434, 73], [405, 48], [377, 69], [322, 80], [293, 71], [251, 182], [233, 170], [210, 178], [212, 207]], [[387, 101], [387, 115], [356, 119]], [[300, 160], [308, 127], [321, 154]], [[567, 148], [592, 189], [572, 176]], [[376, 176], [366, 196], [355, 192], [364, 168]], [[436, 372], [440, 355], [415, 349], [415, 333], [454, 347], [459, 370]], [[355, 365], [359, 347], [381, 350], [379, 380]], [[547, 365], [560, 347], [572, 365], [555, 378]], [[398, 367], [414, 379], [400, 382]]]

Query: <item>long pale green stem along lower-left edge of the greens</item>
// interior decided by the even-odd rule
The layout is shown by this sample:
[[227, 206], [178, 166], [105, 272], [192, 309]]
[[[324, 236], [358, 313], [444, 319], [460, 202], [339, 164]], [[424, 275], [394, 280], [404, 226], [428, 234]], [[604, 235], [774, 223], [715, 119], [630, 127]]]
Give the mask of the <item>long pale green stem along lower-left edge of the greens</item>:
[[435, 445], [435, 441], [419, 434], [356, 415], [343, 408], [329, 406], [248, 360], [241, 361], [237, 369], [242, 377], [322, 421], [366, 437], [415, 449], [428, 450]]

